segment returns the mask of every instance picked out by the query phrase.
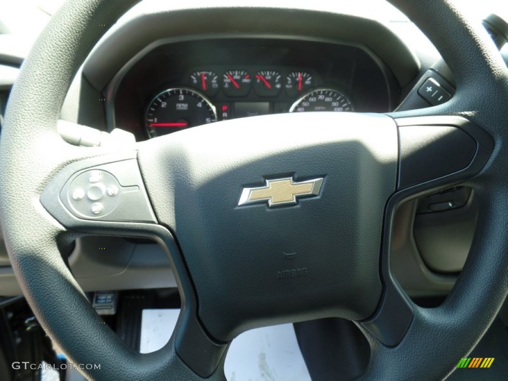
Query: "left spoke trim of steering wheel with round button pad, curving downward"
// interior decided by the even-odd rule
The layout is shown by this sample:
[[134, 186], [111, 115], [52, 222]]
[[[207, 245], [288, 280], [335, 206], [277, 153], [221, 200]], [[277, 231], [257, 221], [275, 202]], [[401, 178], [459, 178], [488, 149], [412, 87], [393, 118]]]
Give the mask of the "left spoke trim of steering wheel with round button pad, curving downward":
[[[166, 365], [190, 372], [188, 379], [220, 378], [229, 343], [211, 339], [197, 319], [192, 281], [172, 233], [157, 223], [137, 154], [133, 150], [73, 161], [48, 183], [41, 203], [63, 227], [78, 234], [143, 237], [158, 242], [168, 255], [183, 296], [172, 339], [159, 352], [169, 352]], [[132, 361], [143, 367], [146, 358]], [[179, 362], [181, 365], [175, 364]]]

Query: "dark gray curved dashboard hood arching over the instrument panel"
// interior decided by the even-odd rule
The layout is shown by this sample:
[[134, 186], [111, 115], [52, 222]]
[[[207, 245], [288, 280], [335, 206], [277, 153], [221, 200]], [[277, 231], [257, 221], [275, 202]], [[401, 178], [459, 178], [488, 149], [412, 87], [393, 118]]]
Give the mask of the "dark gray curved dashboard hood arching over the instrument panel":
[[414, 79], [420, 69], [416, 54], [388, 27], [374, 20], [295, 9], [204, 8], [144, 14], [119, 26], [90, 54], [83, 74], [102, 90], [125, 62], [157, 40], [221, 34], [229, 38], [293, 36], [363, 45], [386, 63], [401, 86]]

